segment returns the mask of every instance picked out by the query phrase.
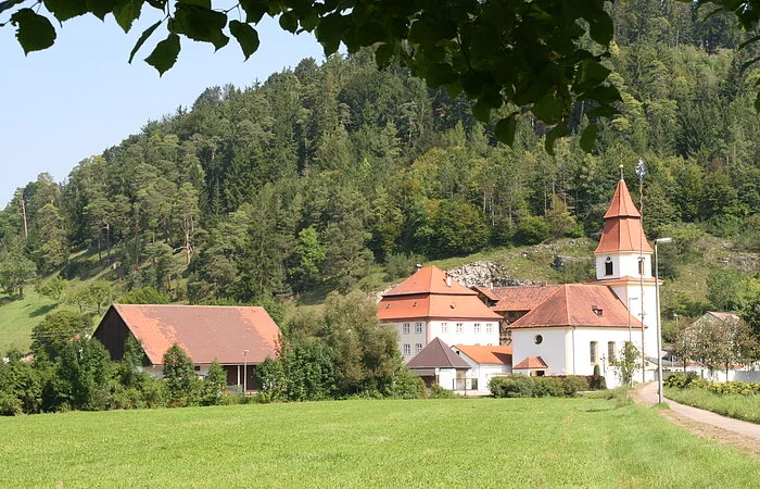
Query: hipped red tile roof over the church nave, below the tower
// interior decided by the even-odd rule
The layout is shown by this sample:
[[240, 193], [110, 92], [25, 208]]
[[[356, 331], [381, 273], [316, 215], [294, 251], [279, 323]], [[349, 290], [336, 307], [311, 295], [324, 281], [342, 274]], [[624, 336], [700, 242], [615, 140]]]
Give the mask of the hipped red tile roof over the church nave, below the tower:
[[565, 284], [558, 286], [555, 293], [509, 327], [512, 329], [571, 326], [626, 328], [629, 324], [632, 328], [642, 327], [642, 323], [629, 314], [625, 304], [609, 287]]

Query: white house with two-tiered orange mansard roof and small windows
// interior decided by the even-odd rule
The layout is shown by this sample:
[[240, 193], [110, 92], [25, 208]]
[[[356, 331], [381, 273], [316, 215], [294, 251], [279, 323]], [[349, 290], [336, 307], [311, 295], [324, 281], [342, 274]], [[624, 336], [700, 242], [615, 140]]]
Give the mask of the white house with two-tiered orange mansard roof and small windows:
[[398, 331], [405, 360], [419, 354], [433, 339], [446, 344], [497, 346], [502, 316], [442, 269], [425, 266], [385, 292], [378, 317]]

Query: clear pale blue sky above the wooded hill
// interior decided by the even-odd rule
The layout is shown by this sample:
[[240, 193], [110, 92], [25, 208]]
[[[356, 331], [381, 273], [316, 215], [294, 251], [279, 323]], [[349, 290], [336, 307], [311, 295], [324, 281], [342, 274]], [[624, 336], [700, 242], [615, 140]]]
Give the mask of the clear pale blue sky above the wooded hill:
[[[153, 15], [152, 9], [143, 8], [145, 14]], [[192, 106], [207, 87], [244, 88], [304, 58], [325, 59], [312, 35], [291, 35], [266, 17], [257, 26], [261, 47], [248, 61], [235, 38], [216, 53], [210, 43], [182, 38], [177, 63], [160, 77], [142, 60], [165, 38], [161, 30], [127, 63], [142, 30], [156, 20], [136, 23], [128, 34], [112, 16], [105, 23], [92, 16], [63, 27], [54, 23], [55, 43], [28, 57], [15, 28], [0, 27], [0, 209], [40, 173], [63, 181], [81, 160], [138, 134], [149, 121]]]

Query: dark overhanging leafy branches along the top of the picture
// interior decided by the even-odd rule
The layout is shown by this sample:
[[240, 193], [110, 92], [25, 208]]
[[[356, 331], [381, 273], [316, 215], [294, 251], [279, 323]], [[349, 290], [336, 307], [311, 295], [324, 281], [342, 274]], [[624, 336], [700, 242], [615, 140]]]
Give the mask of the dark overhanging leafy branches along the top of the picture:
[[[22, 7], [30, 4], [31, 8]], [[473, 100], [473, 114], [487, 122], [505, 103], [530, 109], [549, 130], [546, 148], [570, 130], [573, 104], [584, 102], [593, 121], [618, 113], [617, 88], [607, 82], [603, 64], [613, 36], [605, 0], [241, 0], [229, 10], [211, 0], [45, 0], [52, 16], [64, 22], [91, 13], [103, 20], [113, 14], [129, 32], [144, 4], [157, 10], [159, 20], [147, 28], [129, 61], [144, 42], [165, 25], [168, 35], [145, 61], [163, 74], [177, 61], [180, 37], [212, 43], [217, 50], [235, 37], [245, 59], [258, 49], [255, 25], [268, 15], [282, 29], [314, 33], [329, 55], [343, 43], [353, 53], [376, 47], [376, 61], [384, 66], [397, 59], [431, 87], [444, 87], [455, 97]], [[704, 2], [697, 2], [701, 5]], [[747, 32], [757, 29], [758, 0], [715, 0], [718, 10], [733, 12]], [[38, 13], [40, 1], [5, 0], [0, 15], [10, 16], [26, 53], [49, 48], [55, 40], [50, 20]], [[0, 24], [4, 25], [4, 24]], [[594, 42], [590, 42], [591, 38]], [[757, 42], [752, 38], [748, 42]], [[753, 60], [757, 61], [757, 60]], [[752, 62], [753, 62], [752, 61]], [[751, 63], [751, 62], [750, 62]], [[760, 96], [756, 101], [760, 110]], [[495, 128], [497, 138], [511, 143], [515, 116], [504, 115]], [[590, 124], [581, 143], [591, 151], [598, 128]]]

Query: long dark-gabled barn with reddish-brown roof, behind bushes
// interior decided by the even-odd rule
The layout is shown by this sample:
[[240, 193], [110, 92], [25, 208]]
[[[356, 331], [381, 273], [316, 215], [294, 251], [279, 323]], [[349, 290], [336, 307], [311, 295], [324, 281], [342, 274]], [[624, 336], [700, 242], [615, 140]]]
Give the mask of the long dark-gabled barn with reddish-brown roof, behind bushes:
[[277, 358], [280, 329], [264, 308], [113, 304], [92, 334], [112, 360], [122, 360], [125, 341], [142, 346], [143, 369], [161, 377], [164, 353], [178, 343], [203, 376], [216, 360], [228, 386], [258, 389], [256, 365]]

